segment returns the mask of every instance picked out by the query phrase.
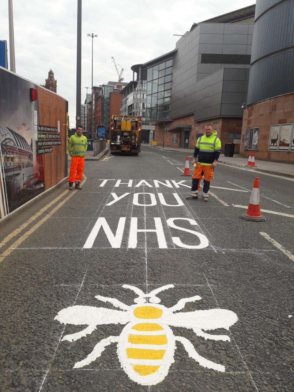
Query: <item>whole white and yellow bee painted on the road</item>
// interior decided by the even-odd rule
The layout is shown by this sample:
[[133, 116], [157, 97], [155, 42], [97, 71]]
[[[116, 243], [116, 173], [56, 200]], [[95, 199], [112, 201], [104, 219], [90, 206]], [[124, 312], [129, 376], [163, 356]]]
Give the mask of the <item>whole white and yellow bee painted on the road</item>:
[[[156, 295], [163, 290], [171, 289], [174, 285], [165, 285], [145, 294], [134, 286], [123, 285], [131, 289], [138, 297], [135, 305], [125, 305], [115, 298], [95, 296], [103, 302], [109, 302], [121, 310], [98, 308], [93, 306], [74, 305], [60, 310], [54, 318], [63, 324], [88, 325], [80, 332], [65, 335], [62, 340], [73, 341], [91, 334], [97, 325], [123, 324], [119, 336], [109, 336], [96, 344], [93, 351], [82, 361], [76, 362], [74, 368], [81, 368], [95, 361], [105, 347], [117, 343], [117, 354], [125, 373], [138, 384], [156, 385], [163, 381], [174, 363], [176, 341], [181, 342], [189, 357], [200, 366], [225, 371], [225, 367], [203, 358], [196, 352], [192, 343], [181, 336], [174, 336], [170, 326], [190, 328], [197, 336], [205, 339], [230, 341], [227, 335], [211, 335], [205, 330], [217, 328], [229, 329], [238, 320], [231, 310], [209, 309], [193, 312], [178, 312], [187, 302], [199, 301], [200, 296], [183, 298], [171, 308], [159, 305], [160, 298]], [[149, 298], [149, 303], [146, 303]]]

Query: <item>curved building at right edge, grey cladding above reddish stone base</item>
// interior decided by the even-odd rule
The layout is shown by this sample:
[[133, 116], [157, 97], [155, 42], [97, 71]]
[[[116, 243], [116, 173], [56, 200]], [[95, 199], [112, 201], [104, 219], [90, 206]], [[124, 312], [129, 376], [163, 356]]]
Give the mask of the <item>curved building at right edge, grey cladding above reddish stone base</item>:
[[294, 163], [294, 0], [257, 0], [241, 150]]

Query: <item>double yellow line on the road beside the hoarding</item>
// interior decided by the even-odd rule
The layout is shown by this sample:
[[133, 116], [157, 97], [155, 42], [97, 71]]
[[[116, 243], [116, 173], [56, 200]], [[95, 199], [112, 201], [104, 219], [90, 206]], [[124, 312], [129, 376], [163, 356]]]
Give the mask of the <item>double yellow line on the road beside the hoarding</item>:
[[[85, 180], [83, 181], [83, 184], [87, 181], [87, 177], [85, 175], [84, 175], [84, 178], [85, 178]], [[67, 194], [67, 193], [68, 193], [68, 190], [62, 192], [62, 194], [60, 194], [54, 200], [52, 200], [50, 203], [45, 205], [45, 207], [40, 209], [40, 211], [36, 212], [36, 214], [34, 214], [31, 218], [29, 218], [18, 229], [15, 229], [13, 232], [11, 232], [6, 238], [4, 238], [4, 240], [2, 242], [0, 242], [0, 249], [7, 242], [9, 242], [13, 237], [17, 236], [20, 232], [22, 232], [22, 230], [24, 230], [28, 225], [30, 225], [33, 221], [35, 221], [39, 216], [44, 214], [44, 212], [46, 212], [58, 200], [63, 198], [63, 196], [65, 196], [65, 194]], [[74, 195], [74, 193], [75, 193], [74, 191], [71, 192], [64, 200], [60, 201], [60, 203], [58, 205], [56, 205], [56, 207], [54, 207], [53, 210], [51, 210], [46, 216], [44, 216], [44, 218], [42, 218], [37, 223], [35, 223], [34, 226], [31, 227], [31, 229], [27, 230], [20, 238], [18, 238], [18, 240], [16, 240], [9, 248], [7, 248], [5, 250], [5, 252], [3, 252], [0, 255], [0, 263], [5, 259], [5, 257], [7, 257], [9, 254], [11, 254], [11, 252], [15, 248], [17, 248], [24, 240], [26, 240], [29, 235], [31, 235], [36, 229], [38, 229], [38, 227], [40, 227], [45, 221], [47, 221], [49, 218], [51, 218], [51, 216], [56, 211], [58, 211], [60, 209], [60, 207], [62, 207]]]

